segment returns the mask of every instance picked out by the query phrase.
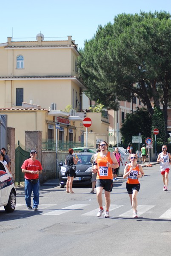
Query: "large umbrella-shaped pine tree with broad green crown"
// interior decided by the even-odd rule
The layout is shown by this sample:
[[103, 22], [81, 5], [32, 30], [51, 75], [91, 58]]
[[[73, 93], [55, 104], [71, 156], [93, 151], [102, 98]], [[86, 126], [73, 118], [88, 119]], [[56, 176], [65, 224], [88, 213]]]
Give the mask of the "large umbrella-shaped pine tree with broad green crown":
[[120, 14], [99, 26], [80, 52], [80, 74], [92, 99], [108, 109], [117, 100], [137, 96], [152, 116], [162, 104], [167, 140], [167, 107], [171, 97], [171, 15], [166, 12]]

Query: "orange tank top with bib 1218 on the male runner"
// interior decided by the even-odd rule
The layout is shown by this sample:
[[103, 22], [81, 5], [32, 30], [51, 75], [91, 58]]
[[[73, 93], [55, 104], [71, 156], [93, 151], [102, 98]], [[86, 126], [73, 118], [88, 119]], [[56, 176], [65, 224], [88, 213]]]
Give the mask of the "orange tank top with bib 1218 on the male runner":
[[112, 168], [106, 166], [107, 162], [113, 164], [110, 157], [110, 152], [105, 157], [100, 156], [100, 152], [97, 154], [97, 179], [99, 180], [113, 180]]

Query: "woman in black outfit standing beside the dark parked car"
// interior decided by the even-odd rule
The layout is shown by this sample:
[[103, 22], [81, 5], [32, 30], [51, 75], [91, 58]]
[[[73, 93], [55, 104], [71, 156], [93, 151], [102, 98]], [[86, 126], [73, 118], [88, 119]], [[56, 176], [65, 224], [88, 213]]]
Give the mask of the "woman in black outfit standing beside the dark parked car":
[[78, 158], [75, 158], [72, 154], [74, 150], [72, 148], [68, 149], [68, 156], [66, 157], [66, 173], [67, 173], [67, 182], [66, 182], [66, 193], [74, 193], [72, 191], [72, 182], [74, 179], [75, 171], [72, 169], [74, 164], [77, 164]]

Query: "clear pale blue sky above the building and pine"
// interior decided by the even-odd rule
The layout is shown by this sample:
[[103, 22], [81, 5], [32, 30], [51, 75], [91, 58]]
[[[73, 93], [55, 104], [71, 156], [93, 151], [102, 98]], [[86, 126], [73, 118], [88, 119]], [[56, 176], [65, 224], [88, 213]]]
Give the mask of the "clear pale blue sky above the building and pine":
[[67, 40], [71, 35], [78, 49], [90, 40], [99, 25], [113, 23], [121, 13], [166, 11], [171, 0], [8, 0], [0, 4], [0, 44], [35, 41], [40, 32], [48, 40]]

